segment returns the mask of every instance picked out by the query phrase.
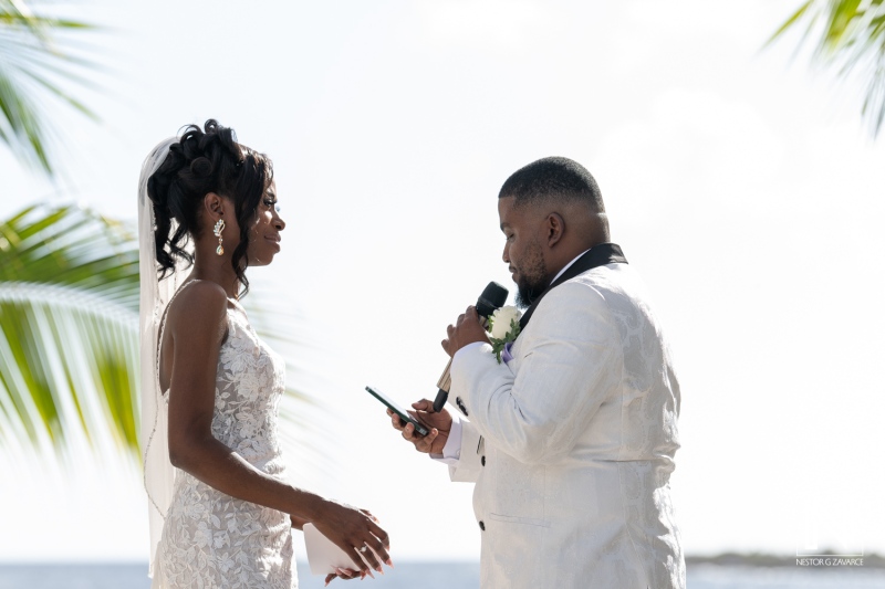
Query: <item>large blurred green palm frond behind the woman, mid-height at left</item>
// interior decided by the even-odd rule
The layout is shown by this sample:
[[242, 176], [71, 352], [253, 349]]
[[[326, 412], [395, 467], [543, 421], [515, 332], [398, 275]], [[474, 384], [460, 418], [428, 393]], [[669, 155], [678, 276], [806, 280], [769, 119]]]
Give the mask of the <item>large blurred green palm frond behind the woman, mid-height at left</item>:
[[[298, 345], [281, 335], [299, 333], [298, 318], [256, 294], [247, 303], [262, 338]], [[138, 455], [138, 362], [134, 233], [77, 207], [0, 222], [0, 445], [60, 449], [74, 430], [90, 440], [103, 430]], [[309, 399], [287, 392], [283, 416], [301, 430], [292, 402]]]

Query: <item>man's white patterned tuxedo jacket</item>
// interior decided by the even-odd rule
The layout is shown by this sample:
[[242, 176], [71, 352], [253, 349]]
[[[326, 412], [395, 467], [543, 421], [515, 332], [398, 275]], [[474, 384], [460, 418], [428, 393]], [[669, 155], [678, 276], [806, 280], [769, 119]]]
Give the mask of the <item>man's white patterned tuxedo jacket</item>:
[[669, 477], [679, 385], [628, 265], [552, 288], [509, 364], [460, 350], [454, 481], [473, 481], [488, 588], [685, 587]]

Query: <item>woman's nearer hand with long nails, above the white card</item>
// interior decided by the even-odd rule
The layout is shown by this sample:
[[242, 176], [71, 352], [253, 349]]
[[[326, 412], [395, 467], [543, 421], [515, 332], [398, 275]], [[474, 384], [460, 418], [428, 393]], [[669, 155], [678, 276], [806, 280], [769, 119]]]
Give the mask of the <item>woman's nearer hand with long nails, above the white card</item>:
[[366, 509], [326, 499], [311, 523], [323, 536], [351, 555], [362, 576], [366, 574], [373, 576], [372, 569], [384, 572], [382, 562], [389, 567], [394, 566], [387, 553], [391, 547], [389, 537], [377, 522], [377, 518]]

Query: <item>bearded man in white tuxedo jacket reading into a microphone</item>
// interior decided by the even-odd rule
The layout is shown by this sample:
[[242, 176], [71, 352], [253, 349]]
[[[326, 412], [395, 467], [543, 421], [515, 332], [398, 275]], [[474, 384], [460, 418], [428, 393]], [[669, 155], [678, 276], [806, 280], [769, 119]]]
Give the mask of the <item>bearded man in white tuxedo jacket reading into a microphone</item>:
[[499, 364], [468, 307], [442, 341], [464, 419], [423, 400], [428, 435], [393, 425], [452, 481], [476, 482], [483, 588], [684, 588], [669, 488], [679, 385], [600, 189], [545, 158], [504, 182], [498, 214], [528, 307], [520, 335]]

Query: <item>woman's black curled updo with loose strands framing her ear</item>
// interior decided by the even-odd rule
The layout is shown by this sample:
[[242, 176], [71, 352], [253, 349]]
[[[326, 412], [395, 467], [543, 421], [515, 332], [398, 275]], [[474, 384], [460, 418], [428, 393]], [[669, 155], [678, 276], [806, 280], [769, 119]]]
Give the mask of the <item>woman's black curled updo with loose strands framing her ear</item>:
[[147, 194], [154, 203], [154, 240], [160, 280], [175, 271], [177, 260], [185, 260], [187, 266], [194, 263], [194, 255], [185, 251], [185, 245], [190, 236], [200, 235], [202, 199], [215, 192], [235, 204], [240, 243], [233, 250], [231, 264], [246, 294], [249, 290], [244, 274], [249, 265], [246, 255], [249, 229], [272, 180], [270, 159], [238, 144], [233, 129], [212, 118], [202, 129], [197, 125], [185, 127], [181, 139], [169, 146], [166, 159], [147, 180]]

